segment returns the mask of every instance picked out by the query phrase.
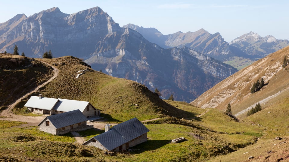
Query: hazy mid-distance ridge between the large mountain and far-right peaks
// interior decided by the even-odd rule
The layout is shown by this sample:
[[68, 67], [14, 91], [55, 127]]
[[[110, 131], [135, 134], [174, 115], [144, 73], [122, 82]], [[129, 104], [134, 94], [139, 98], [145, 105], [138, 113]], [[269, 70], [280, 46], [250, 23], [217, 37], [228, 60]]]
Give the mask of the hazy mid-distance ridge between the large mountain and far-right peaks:
[[186, 46], [219, 60], [234, 55], [229, 48], [229, 44], [224, 41], [220, 33], [212, 35], [206, 30], [200, 29], [196, 32], [176, 32], [174, 34], [162, 35], [154, 28], [143, 28], [134, 24], [127, 24], [123, 27], [131, 28], [141, 33], [145, 39], [163, 48]]

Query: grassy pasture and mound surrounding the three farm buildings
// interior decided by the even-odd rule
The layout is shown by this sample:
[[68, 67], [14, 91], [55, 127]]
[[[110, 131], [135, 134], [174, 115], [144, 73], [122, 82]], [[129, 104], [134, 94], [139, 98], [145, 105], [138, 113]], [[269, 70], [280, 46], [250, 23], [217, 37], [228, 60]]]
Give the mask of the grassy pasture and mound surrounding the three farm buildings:
[[[75, 143], [71, 134], [47, 134], [31, 124], [3, 121], [1, 119], [6, 117], [1, 116], [2, 161], [208, 161], [250, 146], [264, 134], [257, 125], [239, 123], [216, 109], [163, 101], [145, 86], [131, 80], [114, 78], [90, 68], [76, 78], [77, 71], [87, 67], [72, 56], [39, 60], [53, 64], [59, 73], [34, 95], [89, 101], [102, 110], [103, 116], [111, 123], [133, 117], [141, 121], [163, 118], [145, 124], [150, 130], [147, 142], [123, 154], [104, 155], [97, 148]], [[21, 109], [23, 102], [17, 108]], [[79, 134], [88, 139], [102, 132], [93, 129]], [[179, 137], [186, 140], [170, 143]]]

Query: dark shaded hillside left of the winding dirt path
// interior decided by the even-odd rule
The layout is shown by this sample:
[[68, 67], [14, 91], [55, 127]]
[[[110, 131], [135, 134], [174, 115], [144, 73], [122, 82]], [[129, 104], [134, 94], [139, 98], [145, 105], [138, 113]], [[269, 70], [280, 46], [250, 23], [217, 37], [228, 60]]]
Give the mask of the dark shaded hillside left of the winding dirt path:
[[0, 107], [51, 78], [52, 68], [34, 58], [0, 53]]

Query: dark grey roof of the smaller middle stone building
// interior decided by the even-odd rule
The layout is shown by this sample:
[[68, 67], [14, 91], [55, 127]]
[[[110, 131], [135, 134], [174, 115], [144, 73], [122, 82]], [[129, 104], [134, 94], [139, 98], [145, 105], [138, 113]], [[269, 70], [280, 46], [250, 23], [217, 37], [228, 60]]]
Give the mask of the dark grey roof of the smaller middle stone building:
[[[46, 118], [48, 118], [57, 129], [87, 121], [87, 118], [80, 112], [80, 110], [47, 116]], [[43, 121], [45, 121], [46, 118], [43, 119]], [[40, 122], [39, 125], [41, 125], [42, 122]]]

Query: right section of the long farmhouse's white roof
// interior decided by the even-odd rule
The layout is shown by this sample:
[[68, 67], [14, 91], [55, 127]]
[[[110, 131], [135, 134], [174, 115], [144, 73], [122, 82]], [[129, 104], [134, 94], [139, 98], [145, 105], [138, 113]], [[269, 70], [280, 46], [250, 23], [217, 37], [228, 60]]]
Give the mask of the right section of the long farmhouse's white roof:
[[86, 106], [89, 104], [87, 101], [67, 100], [58, 98], [58, 102], [53, 110], [69, 112], [73, 110], [80, 110], [83, 112]]

